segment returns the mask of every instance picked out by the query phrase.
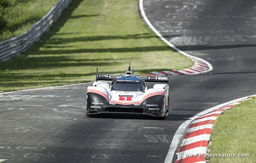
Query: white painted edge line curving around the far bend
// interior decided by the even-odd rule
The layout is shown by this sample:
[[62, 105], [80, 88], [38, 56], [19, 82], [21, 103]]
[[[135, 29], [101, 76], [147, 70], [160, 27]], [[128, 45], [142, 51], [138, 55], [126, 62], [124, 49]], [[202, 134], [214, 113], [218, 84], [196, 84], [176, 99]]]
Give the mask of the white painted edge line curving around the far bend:
[[188, 53], [185, 53], [183, 51], [181, 51], [180, 49], [178, 49], [176, 46], [174, 46], [172, 43], [170, 43], [169, 41], [167, 41], [156, 29], [155, 27], [150, 23], [150, 21], [148, 20], [146, 14], [145, 14], [145, 11], [144, 11], [144, 7], [143, 7], [143, 0], [139, 0], [139, 9], [140, 9], [140, 13], [143, 17], [143, 19], [145, 20], [145, 22], [147, 23], [147, 25], [149, 26], [149, 28], [151, 28], [157, 35], [158, 37], [160, 37], [161, 40], [163, 40], [167, 45], [169, 45], [170, 47], [172, 47], [174, 50], [176, 50], [177, 52], [185, 55], [185, 56], [188, 56], [188, 57], [191, 57], [191, 58], [194, 58], [194, 59], [197, 59], [199, 61], [202, 61], [203, 63], [207, 64], [208, 66], [208, 70], [205, 70], [203, 72], [198, 72], [198, 73], [194, 73], [194, 74], [201, 74], [201, 73], [207, 73], [209, 71], [211, 71], [213, 69], [212, 65], [205, 61], [204, 59], [201, 59], [201, 58], [198, 58], [198, 57], [195, 57], [195, 56], [192, 56]]

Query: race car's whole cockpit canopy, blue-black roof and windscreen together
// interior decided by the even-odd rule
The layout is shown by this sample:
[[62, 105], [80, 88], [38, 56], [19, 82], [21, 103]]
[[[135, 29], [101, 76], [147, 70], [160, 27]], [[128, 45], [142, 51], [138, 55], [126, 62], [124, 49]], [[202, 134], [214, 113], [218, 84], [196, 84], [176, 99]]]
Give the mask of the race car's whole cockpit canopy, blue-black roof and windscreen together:
[[146, 83], [137, 75], [121, 75], [112, 81], [110, 90], [119, 91], [143, 91], [145, 92]]

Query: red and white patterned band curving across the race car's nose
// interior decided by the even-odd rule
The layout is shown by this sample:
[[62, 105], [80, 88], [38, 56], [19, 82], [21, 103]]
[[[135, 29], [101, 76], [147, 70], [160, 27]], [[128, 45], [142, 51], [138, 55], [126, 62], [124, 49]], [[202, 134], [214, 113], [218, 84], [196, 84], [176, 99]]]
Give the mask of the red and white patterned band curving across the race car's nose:
[[102, 91], [99, 91], [99, 90], [88, 89], [88, 90], [87, 90], [87, 93], [89, 93], [89, 92], [95, 93], [95, 94], [99, 94], [99, 95], [103, 96], [104, 98], [106, 98], [109, 102], [112, 102], [112, 103], [114, 103], [114, 104], [120, 104], [120, 105], [141, 104], [144, 100], [146, 100], [146, 99], [149, 98], [149, 97], [156, 96], [156, 95], [165, 95], [165, 92], [164, 92], [164, 91], [161, 91], [161, 92], [154, 92], [154, 93], [150, 93], [150, 94], [147, 94], [146, 96], [144, 96], [141, 101], [136, 101], [136, 102], [120, 102], [120, 101], [109, 100], [108, 96], [107, 96], [105, 93], [103, 93]]

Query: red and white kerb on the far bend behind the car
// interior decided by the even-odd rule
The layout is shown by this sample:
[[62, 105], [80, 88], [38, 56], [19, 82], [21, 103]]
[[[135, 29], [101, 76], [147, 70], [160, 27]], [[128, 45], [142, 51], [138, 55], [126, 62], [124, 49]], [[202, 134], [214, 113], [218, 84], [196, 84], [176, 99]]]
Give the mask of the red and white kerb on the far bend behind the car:
[[[190, 68], [185, 68], [185, 69], [181, 69], [181, 70], [174, 70], [174, 71], [170, 71], [170, 75], [192, 75], [192, 74], [199, 74], [199, 73], [203, 73], [205, 71], [207, 71], [209, 69], [208, 65], [206, 63], [203, 63], [202, 61], [199, 61], [197, 59], [194, 58], [190, 58], [194, 62], [194, 66], [190, 67]], [[150, 72], [149, 76], [167, 76], [168, 75], [168, 71], [154, 71], [154, 72]]]

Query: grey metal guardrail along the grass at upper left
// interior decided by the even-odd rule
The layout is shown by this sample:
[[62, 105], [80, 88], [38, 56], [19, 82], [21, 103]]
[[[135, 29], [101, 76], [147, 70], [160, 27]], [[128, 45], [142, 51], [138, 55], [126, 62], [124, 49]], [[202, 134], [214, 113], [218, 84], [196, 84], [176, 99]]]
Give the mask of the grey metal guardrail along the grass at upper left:
[[26, 51], [34, 42], [38, 41], [44, 32], [57, 21], [63, 10], [72, 0], [58, 0], [52, 9], [23, 34], [0, 42], [0, 62], [6, 61], [13, 55]]

